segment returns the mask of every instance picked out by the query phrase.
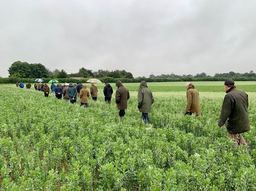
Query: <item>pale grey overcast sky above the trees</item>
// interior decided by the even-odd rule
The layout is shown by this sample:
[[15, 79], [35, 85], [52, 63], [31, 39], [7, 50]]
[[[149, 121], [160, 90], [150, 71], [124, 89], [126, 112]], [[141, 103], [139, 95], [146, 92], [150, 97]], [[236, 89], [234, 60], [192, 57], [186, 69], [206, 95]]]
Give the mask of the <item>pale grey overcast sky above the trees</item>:
[[15, 61], [68, 74], [256, 72], [255, 0], [0, 0], [0, 76]]

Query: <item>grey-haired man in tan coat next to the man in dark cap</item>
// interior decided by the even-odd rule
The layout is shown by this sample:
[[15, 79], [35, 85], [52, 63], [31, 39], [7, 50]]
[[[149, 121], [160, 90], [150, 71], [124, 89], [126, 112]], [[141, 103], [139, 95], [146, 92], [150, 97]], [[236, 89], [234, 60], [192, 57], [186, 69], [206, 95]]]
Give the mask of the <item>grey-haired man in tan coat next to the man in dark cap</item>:
[[186, 83], [186, 88], [187, 107], [184, 115], [192, 115], [192, 113], [195, 113], [195, 116], [199, 116], [201, 114], [199, 92], [195, 89], [195, 86], [190, 82]]

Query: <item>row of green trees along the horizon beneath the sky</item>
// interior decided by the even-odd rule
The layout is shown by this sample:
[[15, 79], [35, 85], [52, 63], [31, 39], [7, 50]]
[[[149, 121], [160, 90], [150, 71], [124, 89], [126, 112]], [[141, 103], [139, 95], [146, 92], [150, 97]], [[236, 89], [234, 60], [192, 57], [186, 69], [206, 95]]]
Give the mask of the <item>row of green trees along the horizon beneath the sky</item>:
[[[86, 69], [84, 67], [79, 68], [78, 72], [72, 73], [68, 75], [64, 70], [49, 70], [49, 68], [46, 68], [43, 64], [40, 63], [34, 63], [29, 64], [27, 62], [21, 62], [17, 61], [11, 64], [9, 67], [9, 78], [57, 78], [57, 79], [65, 79], [69, 78], [70, 75], [79, 75], [81, 78], [111, 78], [111, 79], [134, 79], [131, 72], [127, 72], [125, 70], [115, 70], [115, 71], [108, 71], [108, 70], [98, 70], [98, 71], [92, 71], [89, 69]], [[176, 75], [174, 73], [172, 74], [162, 74], [162, 75], [153, 75], [153, 72], [148, 77], [145, 76], [139, 76], [136, 79], [155, 79], [156, 81], [159, 81], [157, 79], [167, 79], [168, 81], [172, 81], [173, 79], [190, 79], [190, 81], [193, 81], [195, 79], [205, 78], [206, 80], [216, 80], [212, 78], [237, 78], [237, 79], [245, 79], [246, 78], [256, 78], [256, 74], [251, 70], [250, 72], [242, 73], [235, 73], [233, 71], [230, 71], [229, 73], [215, 73], [214, 76], [207, 75], [205, 72], [202, 72], [201, 74], [196, 75]]]

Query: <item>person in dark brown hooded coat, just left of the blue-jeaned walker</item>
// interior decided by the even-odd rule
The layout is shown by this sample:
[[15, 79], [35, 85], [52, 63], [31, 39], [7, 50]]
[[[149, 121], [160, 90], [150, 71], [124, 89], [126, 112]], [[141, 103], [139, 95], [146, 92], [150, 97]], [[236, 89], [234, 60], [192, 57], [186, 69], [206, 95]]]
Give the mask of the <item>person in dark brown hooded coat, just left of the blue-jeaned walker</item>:
[[125, 115], [125, 109], [127, 109], [127, 102], [130, 98], [129, 90], [124, 87], [123, 83], [118, 80], [116, 82], [116, 106], [119, 109], [119, 116]]

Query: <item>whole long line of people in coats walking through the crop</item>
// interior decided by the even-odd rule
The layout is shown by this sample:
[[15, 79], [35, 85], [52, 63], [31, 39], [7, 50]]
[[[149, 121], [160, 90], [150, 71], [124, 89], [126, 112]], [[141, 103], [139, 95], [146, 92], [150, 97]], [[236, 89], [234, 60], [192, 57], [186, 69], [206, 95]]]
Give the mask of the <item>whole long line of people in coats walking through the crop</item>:
[[[16, 86], [22, 87], [21, 84], [22, 83], [18, 84], [17, 82]], [[184, 115], [201, 115], [199, 92], [195, 89], [195, 86], [192, 83], [186, 83], [185, 86], [187, 88], [187, 106]], [[249, 151], [251, 151], [249, 145], [241, 135], [241, 133], [250, 131], [248, 95], [242, 90], [237, 90], [235, 87], [235, 82], [232, 79], [227, 79], [224, 86], [226, 96], [223, 100], [218, 126], [221, 128], [226, 123], [228, 137], [230, 139], [234, 139], [235, 146], [237, 147], [238, 145], [242, 144], [245, 145]], [[26, 84], [26, 87], [30, 88], [31, 84]], [[38, 91], [44, 91], [45, 97], [48, 97], [50, 87], [47, 84], [42, 84], [39, 82], [36, 83], [34, 87]], [[116, 82], [116, 87], [117, 90], [115, 101], [117, 109], [119, 109], [119, 116], [121, 118], [125, 115], [125, 109], [127, 109], [127, 103], [130, 95], [129, 90], [123, 86], [123, 83], [120, 80]], [[80, 105], [84, 105], [86, 108], [88, 107], [88, 97], [92, 96], [92, 99], [96, 101], [98, 93], [98, 89], [93, 83], [91, 83], [89, 91], [87, 90], [87, 86], [82, 85], [81, 82], [78, 82], [75, 84], [75, 86], [73, 86], [73, 83], [65, 83], [64, 86], [59, 83], [56, 87], [55, 85], [51, 86], [51, 91], [55, 93], [58, 99], [61, 99], [63, 96], [64, 99], [70, 103], [76, 103], [77, 97], [80, 97]], [[105, 96], [105, 102], [111, 104], [113, 88], [108, 82], [105, 82], [103, 93]], [[147, 123], [150, 127], [152, 127], [148, 113], [151, 112], [154, 98], [151, 90], [149, 90], [147, 87], [147, 82], [145, 81], [140, 83], [137, 101], [137, 108], [142, 113], [141, 119], [144, 123]]]

